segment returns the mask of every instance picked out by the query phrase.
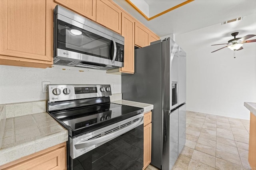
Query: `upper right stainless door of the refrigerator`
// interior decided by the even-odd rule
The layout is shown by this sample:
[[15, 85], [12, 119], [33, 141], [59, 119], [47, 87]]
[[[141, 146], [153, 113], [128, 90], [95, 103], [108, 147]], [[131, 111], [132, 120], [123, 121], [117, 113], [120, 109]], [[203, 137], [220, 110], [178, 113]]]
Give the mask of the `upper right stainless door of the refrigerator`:
[[178, 105], [186, 102], [186, 53], [180, 48], [179, 52], [179, 97]]

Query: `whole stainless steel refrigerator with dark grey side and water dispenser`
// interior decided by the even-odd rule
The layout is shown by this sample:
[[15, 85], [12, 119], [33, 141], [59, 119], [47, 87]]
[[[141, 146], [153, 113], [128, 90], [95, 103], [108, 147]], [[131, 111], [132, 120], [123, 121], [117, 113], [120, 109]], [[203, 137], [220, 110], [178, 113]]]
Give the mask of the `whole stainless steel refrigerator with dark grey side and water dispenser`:
[[186, 53], [170, 38], [136, 49], [122, 98], [154, 105], [151, 164], [172, 169], [186, 142]]

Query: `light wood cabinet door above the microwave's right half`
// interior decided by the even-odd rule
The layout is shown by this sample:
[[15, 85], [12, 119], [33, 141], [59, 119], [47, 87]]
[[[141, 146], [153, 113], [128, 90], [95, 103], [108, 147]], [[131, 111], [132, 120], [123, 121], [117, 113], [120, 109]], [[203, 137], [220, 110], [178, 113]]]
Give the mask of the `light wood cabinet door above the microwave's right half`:
[[108, 0], [96, 0], [96, 22], [121, 34], [121, 13]]

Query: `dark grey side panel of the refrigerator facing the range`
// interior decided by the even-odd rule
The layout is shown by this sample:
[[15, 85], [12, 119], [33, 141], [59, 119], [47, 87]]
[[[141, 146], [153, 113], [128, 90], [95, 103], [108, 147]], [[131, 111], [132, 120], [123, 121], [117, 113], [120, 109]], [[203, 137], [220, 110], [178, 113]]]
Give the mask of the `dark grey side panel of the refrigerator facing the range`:
[[135, 73], [122, 75], [122, 99], [150, 103], [152, 111], [152, 162], [161, 168], [162, 105], [161, 43], [135, 50]]

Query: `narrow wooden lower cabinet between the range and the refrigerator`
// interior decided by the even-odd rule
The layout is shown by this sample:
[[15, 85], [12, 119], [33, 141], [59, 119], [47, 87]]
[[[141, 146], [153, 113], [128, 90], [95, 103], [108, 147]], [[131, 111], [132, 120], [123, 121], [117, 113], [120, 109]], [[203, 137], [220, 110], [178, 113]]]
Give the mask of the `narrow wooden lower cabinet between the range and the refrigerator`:
[[152, 112], [144, 114], [144, 160], [143, 169], [151, 162]]

